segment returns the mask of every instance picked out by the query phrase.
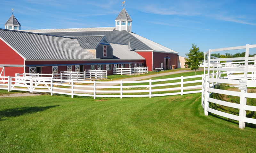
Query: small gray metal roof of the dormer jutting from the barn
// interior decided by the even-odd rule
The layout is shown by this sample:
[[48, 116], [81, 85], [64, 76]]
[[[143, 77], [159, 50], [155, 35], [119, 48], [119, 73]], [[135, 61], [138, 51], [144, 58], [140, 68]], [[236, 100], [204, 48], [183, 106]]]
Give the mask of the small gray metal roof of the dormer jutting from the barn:
[[77, 38], [83, 49], [96, 49], [105, 36], [71, 36]]

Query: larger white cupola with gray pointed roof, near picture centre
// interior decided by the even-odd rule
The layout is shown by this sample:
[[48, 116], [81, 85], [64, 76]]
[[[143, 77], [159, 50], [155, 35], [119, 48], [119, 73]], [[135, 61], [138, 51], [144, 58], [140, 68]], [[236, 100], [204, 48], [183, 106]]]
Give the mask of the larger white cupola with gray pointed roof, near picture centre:
[[132, 18], [124, 8], [116, 18], [116, 30], [126, 30], [132, 32]]

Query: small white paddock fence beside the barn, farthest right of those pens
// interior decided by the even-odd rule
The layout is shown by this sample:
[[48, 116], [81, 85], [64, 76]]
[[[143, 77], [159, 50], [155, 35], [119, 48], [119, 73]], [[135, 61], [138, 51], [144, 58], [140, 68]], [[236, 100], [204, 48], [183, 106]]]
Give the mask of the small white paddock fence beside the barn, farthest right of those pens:
[[148, 67], [113, 68], [113, 74], [138, 75], [148, 73]]

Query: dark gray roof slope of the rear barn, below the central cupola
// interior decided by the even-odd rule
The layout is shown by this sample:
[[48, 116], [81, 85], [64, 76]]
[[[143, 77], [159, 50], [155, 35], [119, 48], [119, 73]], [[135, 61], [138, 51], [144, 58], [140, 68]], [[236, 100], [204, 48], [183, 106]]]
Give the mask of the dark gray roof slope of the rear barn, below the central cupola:
[[105, 35], [109, 41], [109, 43], [115, 44], [122, 44], [128, 45], [128, 41], [130, 40], [130, 46], [132, 50], [153, 50], [152, 48], [148, 47], [145, 43], [141, 42], [139, 39], [134, 37], [130, 32], [123, 30], [123, 31], [88, 31], [88, 32], [58, 32], [58, 33], [45, 33], [51, 35], [58, 35], [58, 36], [99, 36]]

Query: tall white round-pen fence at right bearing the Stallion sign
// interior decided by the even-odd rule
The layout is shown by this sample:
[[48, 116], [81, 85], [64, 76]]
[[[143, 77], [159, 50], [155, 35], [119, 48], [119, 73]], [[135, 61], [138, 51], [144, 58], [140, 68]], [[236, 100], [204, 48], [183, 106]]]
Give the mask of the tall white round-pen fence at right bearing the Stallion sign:
[[[208, 115], [208, 112], [211, 112], [213, 114], [217, 114], [217, 115], [229, 118], [229, 119], [238, 120], [239, 128], [244, 128], [245, 122], [256, 124], [256, 119], [246, 117], [246, 111], [254, 111], [254, 112], [256, 111], [256, 106], [246, 105], [246, 98], [256, 98], [256, 93], [248, 93], [247, 92], [248, 85], [256, 86], [255, 64], [251, 64], [250, 66], [248, 64], [248, 62], [255, 62], [255, 60], [256, 60], [256, 57], [249, 57], [249, 49], [255, 48], [255, 47], [256, 47], [256, 45], [247, 44], [246, 46], [239, 46], [239, 47], [228, 47], [228, 48], [220, 48], [220, 49], [212, 49], [212, 50], [210, 49], [208, 52], [205, 53], [205, 55], [208, 55], [208, 60], [205, 60], [205, 58], [204, 58], [204, 71], [207, 70], [208, 73], [202, 79], [202, 81], [203, 81], [203, 83], [202, 83], [202, 90], [203, 90], [202, 91], [202, 107], [204, 108], [205, 115]], [[231, 67], [226, 67], [226, 68], [212, 67], [211, 68], [211, 64], [215, 64], [217, 61], [220, 61], [220, 59], [214, 59], [214, 58], [211, 59], [211, 52], [236, 50], [236, 49], [245, 49], [245, 57], [222, 58], [221, 61], [226, 61], [226, 64], [227, 64], [227, 61], [243, 60], [243, 62], [240, 62], [240, 63], [244, 63], [242, 66], [236, 65], [234, 67], [232, 64], [238, 63], [238, 62], [231, 62], [231, 64], [227, 64], [227, 65], [231, 65]], [[249, 60], [253, 60], [253, 61], [249, 61]], [[206, 63], [208, 63], [207, 65], [209, 65], [208, 68], [205, 68]], [[227, 77], [210, 78], [209, 77], [210, 70], [217, 71], [217, 73], [226, 73]], [[226, 71], [226, 72], [220, 72], [220, 71]], [[252, 72], [252, 74], [248, 74], [248, 72]], [[244, 73], [244, 74], [243, 75], [240, 75], [240, 74], [232, 75], [234, 73]], [[248, 79], [251, 79], [251, 80], [248, 80]], [[243, 81], [240, 81], [240, 80], [243, 80]], [[240, 84], [239, 84], [239, 81], [240, 81]], [[210, 83], [235, 84], [235, 85], [238, 85], [241, 90], [240, 90], [240, 92], [236, 92], [236, 91], [213, 89], [210, 87]], [[244, 90], [242, 89], [242, 85], [245, 85], [244, 86], [245, 88], [243, 87]], [[231, 103], [231, 102], [226, 102], [226, 101], [210, 98], [210, 95], [213, 93], [219, 93], [219, 94], [240, 97], [240, 104], [235, 104], [235, 103]], [[209, 102], [219, 104], [222, 106], [237, 108], [237, 109], [239, 109], [239, 116], [234, 115], [234, 114], [224, 113], [224, 112], [209, 108]]]

